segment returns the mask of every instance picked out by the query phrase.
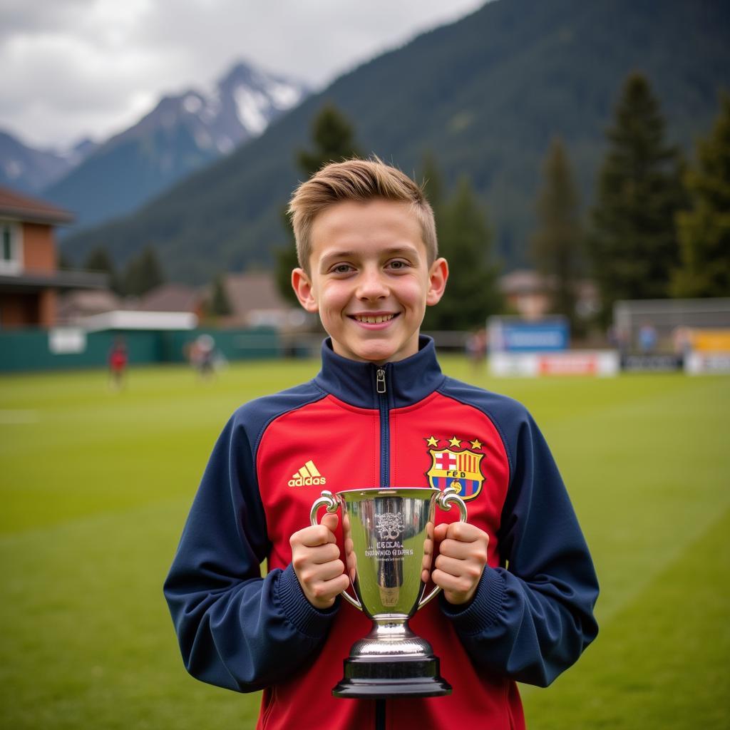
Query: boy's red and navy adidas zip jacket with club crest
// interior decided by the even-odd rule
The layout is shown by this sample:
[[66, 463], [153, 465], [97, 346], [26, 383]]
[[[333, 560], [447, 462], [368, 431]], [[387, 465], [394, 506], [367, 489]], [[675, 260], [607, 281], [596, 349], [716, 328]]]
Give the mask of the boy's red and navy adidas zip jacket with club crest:
[[[453, 694], [388, 700], [388, 727], [522, 728], [515, 682], [548, 685], [596, 637], [596, 574], [529, 413], [445, 377], [425, 337], [417, 354], [382, 366], [342, 358], [327, 341], [313, 380], [228, 421], [164, 588], [188, 671], [264, 689], [260, 729], [370, 730], [374, 702], [331, 689], [372, 624], [341, 599], [329, 610], [307, 602], [289, 537], [323, 489], [454, 480], [469, 522], [489, 535], [488, 566], [472, 602], [442, 595], [410, 621]], [[456, 513], [437, 510], [437, 521]]]

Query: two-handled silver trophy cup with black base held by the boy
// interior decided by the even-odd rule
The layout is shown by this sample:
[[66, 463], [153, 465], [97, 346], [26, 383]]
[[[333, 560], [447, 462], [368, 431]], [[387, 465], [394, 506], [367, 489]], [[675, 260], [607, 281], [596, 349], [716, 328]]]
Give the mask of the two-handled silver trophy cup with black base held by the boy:
[[372, 631], [353, 644], [345, 676], [333, 688], [336, 697], [434, 697], [451, 694], [439, 675], [431, 645], [416, 636], [408, 619], [441, 591], [425, 598], [423, 569], [433, 557], [434, 510], [456, 504], [466, 522], [466, 504], [456, 489], [350, 489], [323, 491], [312, 504], [310, 521], [320, 507], [342, 510], [345, 562], [356, 598], [342, 596], [372, 619]]

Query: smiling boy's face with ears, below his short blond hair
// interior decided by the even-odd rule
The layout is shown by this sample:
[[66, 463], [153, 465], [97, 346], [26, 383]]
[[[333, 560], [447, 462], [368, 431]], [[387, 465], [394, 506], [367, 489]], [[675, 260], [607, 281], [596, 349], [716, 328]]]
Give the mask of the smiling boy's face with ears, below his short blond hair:
[[448, 267], [429, 266], [410, 205], [343, 201], [312, 226], [310, 273], [292, 285], [307, 312], [319, 312], [338, 355], [382, 364], [418, 352], [426, 305], [444, 292]]

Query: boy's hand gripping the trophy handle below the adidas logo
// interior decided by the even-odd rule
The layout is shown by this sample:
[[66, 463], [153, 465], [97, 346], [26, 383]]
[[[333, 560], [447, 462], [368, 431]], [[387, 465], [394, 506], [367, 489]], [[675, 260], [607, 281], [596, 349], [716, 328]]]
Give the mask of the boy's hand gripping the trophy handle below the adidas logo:
[[320, 525], [296, 531], [289, 539], [291, 564], [301, 590], [319, 609], [329, 608], [350, 585], [334, 537], [337, 520], [337, 515], [324, 515]]

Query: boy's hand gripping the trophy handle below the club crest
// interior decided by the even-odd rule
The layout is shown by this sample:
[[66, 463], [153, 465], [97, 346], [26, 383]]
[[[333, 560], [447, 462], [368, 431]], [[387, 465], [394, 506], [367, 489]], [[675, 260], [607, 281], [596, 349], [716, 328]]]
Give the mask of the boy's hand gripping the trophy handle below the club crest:
[[469, 523], [453, 522], [437, 525], [434, 538], [441, 545], [431, 580], [450, 604], [471, 601], [487, 564], [488, 534]]

